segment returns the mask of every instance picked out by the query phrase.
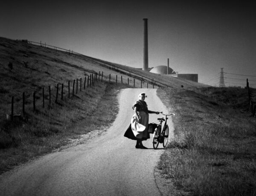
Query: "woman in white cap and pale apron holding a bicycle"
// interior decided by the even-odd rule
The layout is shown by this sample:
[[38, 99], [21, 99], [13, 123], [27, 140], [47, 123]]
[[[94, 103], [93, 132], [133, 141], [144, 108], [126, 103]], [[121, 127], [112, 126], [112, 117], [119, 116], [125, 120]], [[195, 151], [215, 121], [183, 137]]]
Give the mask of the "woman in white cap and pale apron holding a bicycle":
[[143, 146], [142, 141], [150, 138], [148, 133], [148, 114], [159, 114], [148, 110], [145, 100], [145, 93], [139, 95], [139, 100], [136, 101], [132, 107], [134, 115], [131, 118], [131, 124], [125, 132], [125, 137], [137, 140], [136, 148], [147, 149]]

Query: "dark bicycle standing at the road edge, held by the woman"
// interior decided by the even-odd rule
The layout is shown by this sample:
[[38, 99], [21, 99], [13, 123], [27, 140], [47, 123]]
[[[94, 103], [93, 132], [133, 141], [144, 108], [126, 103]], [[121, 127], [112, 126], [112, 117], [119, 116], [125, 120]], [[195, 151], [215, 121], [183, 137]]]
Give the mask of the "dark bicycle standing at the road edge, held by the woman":
[[[163, 112], [160, 112], [161, 114], [163, 114]], [[172, 114], [163, 114], [165, 115], [165, 119], [164, 118], [157, 118], [158, 121], [160, 121], [160, 124], [157, 125], [157, 128], [155, 128], [154, 130], [154, 134], [153, 134], [153, 148], [157, 149], [158, 144], [159, 143], [163, 143], [163, 147], [165, 148], [167, 145], [167, 141], [168, 141], [168, 137], [169, 137], [169, 126], [167, 124], [167, 116], [170, 115], [175, 115], [174, 113]], [[163, 125], [163, 131], [162, 130], [162, 123], [163, 121], [165, 121], [164, 125]]]

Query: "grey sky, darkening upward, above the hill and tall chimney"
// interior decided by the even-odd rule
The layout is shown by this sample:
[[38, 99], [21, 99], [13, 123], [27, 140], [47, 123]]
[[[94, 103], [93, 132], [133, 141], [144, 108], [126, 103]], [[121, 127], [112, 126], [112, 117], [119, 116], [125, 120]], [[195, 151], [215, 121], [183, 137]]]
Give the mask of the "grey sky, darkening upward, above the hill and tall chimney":
[[253, 0], [5, 1], [0, 37], [27, 39], [127, 66], [198, 74], [198, 82], [256, 88], [256, 3]]

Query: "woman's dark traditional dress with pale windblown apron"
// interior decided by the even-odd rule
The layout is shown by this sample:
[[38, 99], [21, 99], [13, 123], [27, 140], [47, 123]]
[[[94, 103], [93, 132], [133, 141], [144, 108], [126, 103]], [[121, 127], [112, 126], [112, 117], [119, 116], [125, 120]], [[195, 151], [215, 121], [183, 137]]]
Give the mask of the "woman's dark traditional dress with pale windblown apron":
[[148, 106], [145, 101], [136, 101], [132, 107], [137, 107], [137, 115], [139, 119], [137, 121], [134, 114], [131, 118], [131, 124], [125, 132], [125, 137], [133, 140], [141, 139], [147, 140], [150, 138], [148, 133]]

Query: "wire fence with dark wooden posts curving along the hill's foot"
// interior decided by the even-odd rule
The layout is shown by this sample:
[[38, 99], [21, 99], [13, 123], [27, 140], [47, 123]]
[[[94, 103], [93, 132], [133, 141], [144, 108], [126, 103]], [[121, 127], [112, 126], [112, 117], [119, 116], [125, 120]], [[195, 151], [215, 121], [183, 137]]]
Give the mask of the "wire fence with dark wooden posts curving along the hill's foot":
[[[60, 100], [64, 100], [64, 96], [66, 96], [66, 98], [71, 98], [71, 97], [75, 97], [76, 94], [78, 94], [79, 92], [82, 92], [83, 90], [86, 91], [86, 87], [90, 88], [92, 86], [95, 86], [95, 84], [97, 84], [98, 82], [106, 82], [106, 83], [116, 83], [116, 84], [127, 84], [130, 86], [134, 86], [136, 88], [159, 88], [159, 85], [155, 85], [155, 84], [148, 84], [146, 83], [145, 86], [145, 82], [143, 82], [143, 80], [140, 80], [140, 86], [137, 86], [137, 79], [135, 78], [127, 78], [127, 83], [125, 81], [123, 81], [122, 75], [118, 77], [118, 75], [116, 76], [111, 76], [111, 74], [109, 74], [108, 76], [104, 76], [103, 77], [103, 72], [99, 72], [96, 73], [91, 73], [90, 75], [85, 76], [84, 78], [76, 78], [75, 80], [69, 80], [67, 82], [66, 85], [64, 85], [64, 83], [58, 83], [55, 85], [49, 85], [47, 87], [41, 87], [41, 92], [39, 91], [34, 91], [34, 92], [30, 92], [30, 93], [25, 93], [23, 92], [22, 94], [22, 114], [25, 115], [26, 114], [26, 110], [29, 110], [30, 108], [32, 108], [33, 112], [36, 112], [39, 110], [39, 108], [45, 108], [48, 107], [48, 109], [51, 108], [52, 104], [59, 104]], [[121, 78], [121, 82], [120, 80], [118, 81], [118, 78]], [[30, 96], [32, 95], [32, 107], [29, 107], [27, 103], [27, 100], [30, 98]], [[14, 118], [21, 118], [21, 114], [17, 114], [19, 111], [16, 111], [16, 114], [14, 114], [14, 104], [20, 104], [19, 101], [17, 101], [16, 103], [14, 102], [14, 96], [12, 96], [12, 101], [11, 101], [11, 114], [7, 114], [6, 118], [7, 120], [12, 120]], [[40, 102], [39, 102], [40, 100]], [[21, 107], [21, 106], [20, 106]], [[16, 107], [15, 108], [19, 108]]]

